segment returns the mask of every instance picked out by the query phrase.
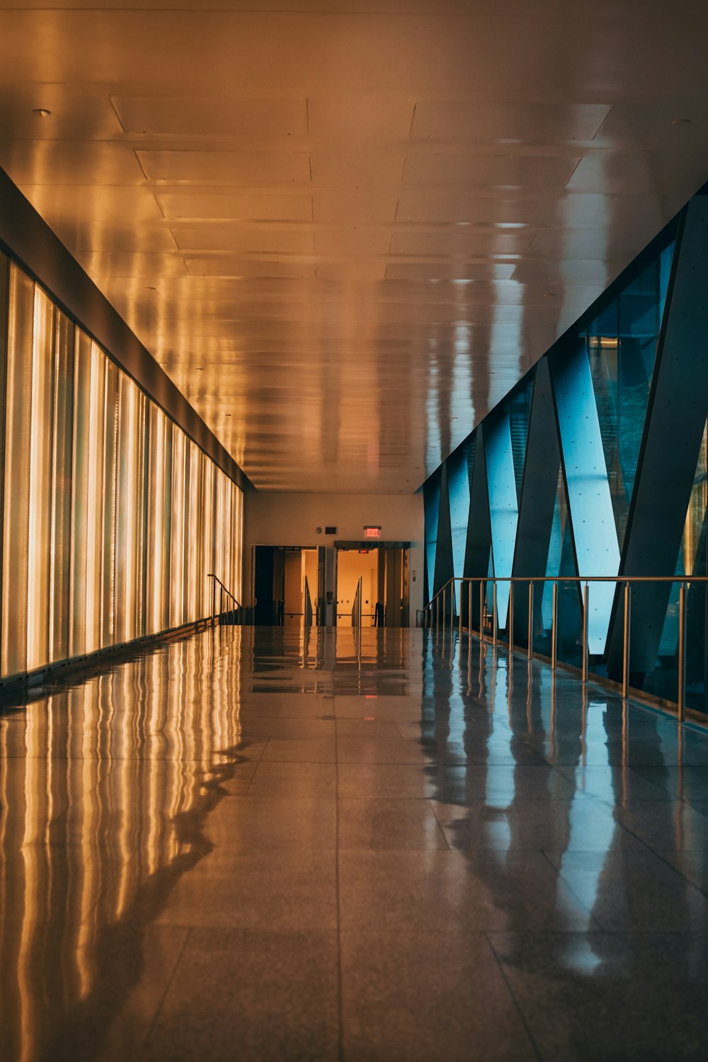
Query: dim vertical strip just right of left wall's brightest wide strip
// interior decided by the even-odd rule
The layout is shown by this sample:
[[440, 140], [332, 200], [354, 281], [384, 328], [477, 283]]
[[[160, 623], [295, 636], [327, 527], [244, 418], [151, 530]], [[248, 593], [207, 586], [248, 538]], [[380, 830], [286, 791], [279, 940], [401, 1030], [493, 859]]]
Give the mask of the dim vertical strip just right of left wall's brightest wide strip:
[[69, 655], [74, 327], [57, 312], [52, 413], [50, 661]]

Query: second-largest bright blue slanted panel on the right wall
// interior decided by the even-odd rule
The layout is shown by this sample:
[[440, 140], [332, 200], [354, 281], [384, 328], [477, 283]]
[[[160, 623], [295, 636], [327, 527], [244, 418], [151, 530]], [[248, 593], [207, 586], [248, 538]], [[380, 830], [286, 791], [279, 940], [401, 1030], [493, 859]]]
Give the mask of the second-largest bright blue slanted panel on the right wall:
[[[504, 411], [489, 417], [488, 421], [484, 422], [483, 430], [487, 462], [494, 573], [497, 579], [500, 579], [512, 575], [516, 531], [519, 521], [508, 413]], [[497, 607], [499, 610], [499, 626], [505, 627], [508, 583], [499, 583], [497, 586]]]

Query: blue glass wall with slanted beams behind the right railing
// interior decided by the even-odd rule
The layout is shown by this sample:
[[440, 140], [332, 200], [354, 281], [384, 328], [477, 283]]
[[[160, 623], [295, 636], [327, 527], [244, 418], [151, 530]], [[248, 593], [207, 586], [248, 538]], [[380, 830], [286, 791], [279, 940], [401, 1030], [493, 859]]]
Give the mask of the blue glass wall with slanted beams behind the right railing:
[[[452, 576], [469, 578], [479, 629], [480, 604], [487, 615], [494, 607], [490, 581], [484, 598], [494, 576], [508, 644], [512, 576], [520, 582], [511, 640], [528, 649], [531, 637], [536, 653], [555, 649], [581, 668], [590, 580], [588, 666], [619, 682], [625, 604], [616, 580], [626, 576], [629, 687], [675, 703], [680, 676], [688, 708], [708, 715], [705, 202], [695, 196], [539, 359], [429, 477], [424, 498], [428, 600]], [[469, 600], [468, 587], [448, 594], [432, 619], [467, 624]]]

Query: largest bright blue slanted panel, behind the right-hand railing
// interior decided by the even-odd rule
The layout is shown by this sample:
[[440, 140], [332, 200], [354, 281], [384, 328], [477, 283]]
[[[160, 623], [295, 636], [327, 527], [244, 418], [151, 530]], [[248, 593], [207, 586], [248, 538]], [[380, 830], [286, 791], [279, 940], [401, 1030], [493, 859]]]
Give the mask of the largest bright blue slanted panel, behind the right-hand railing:
[[[616, 576], [620, 549], [585, 343], [564, 344], [550, 364], [579, 575]], [[614, 599], [614, 583], [592, 583], [590, 653], [605, 650]]]

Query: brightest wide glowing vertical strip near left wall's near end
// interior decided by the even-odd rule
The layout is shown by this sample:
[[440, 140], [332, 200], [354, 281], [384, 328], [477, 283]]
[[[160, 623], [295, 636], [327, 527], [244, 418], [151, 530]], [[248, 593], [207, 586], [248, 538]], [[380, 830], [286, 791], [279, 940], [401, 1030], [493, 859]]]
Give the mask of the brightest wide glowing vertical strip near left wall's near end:
[[28, 542], [27, 668], [49, 661], [49, 569], [52, 500], [54, 306], [35, 286]]

